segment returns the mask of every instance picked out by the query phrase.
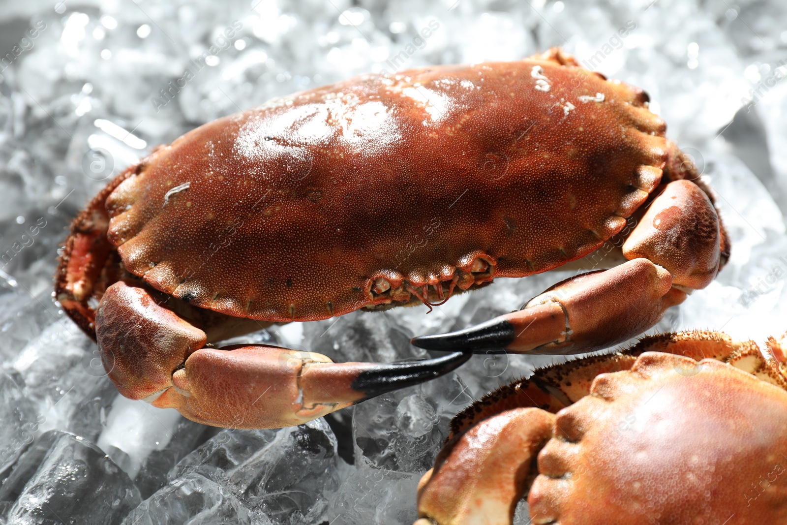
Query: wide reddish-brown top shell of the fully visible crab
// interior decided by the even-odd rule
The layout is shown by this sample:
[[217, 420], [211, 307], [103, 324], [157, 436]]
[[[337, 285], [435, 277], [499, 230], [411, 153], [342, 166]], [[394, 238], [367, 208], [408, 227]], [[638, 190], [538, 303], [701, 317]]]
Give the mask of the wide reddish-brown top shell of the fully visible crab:
[[324, 319], [390, 302], [378, 277], [405, 301], [583, 257], [659, 183], [664, 129], [641, 90], [554, 51], [362, 76], [157, 150], [109, 196], [108, 237], [194, 305]]

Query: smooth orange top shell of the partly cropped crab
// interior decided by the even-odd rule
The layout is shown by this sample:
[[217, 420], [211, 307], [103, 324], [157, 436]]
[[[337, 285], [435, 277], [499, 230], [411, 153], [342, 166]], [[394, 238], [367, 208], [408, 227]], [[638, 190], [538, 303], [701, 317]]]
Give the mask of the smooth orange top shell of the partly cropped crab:
[[716, 360], [645, 353], [563, 409], [534, 523], [787, 523], [787, 392]]

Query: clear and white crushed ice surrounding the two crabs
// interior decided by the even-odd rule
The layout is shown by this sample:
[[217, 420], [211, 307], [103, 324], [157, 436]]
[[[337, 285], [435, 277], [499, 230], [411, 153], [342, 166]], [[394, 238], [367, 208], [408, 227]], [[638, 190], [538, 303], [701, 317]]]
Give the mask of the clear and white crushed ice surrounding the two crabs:
[[[386, 61], [403, 50], [405, 67], [514, 60], [554, 45], [580, 61], [601, 51], [597, 68], [645, 88], [669, 137], [691, 148], [733, 241], [719, 279], [656, 330], [711, 328], [758, 342], [785, 331], [787, 82], [769, 79], [785, 75], [777, 68], [787, 58], [787, 8], [778, 0], [611, 4], [3, 2], [0, 53], [25, 49], [0, 73], [0, 255], [13, 252], [0, 261], [0, 478], [8, 476], [0, 523], [412, 523], [416, 483], [450, 417], [552, 361], [474, 357], [456, 374], [330, 420], [219, 431], [117, 396], [94, 344], [50, 297], [65, 227], [105, 184], [83, 168], [91, 147], [109, 150], [116, 173], [217, 116], [393, 71]], [[432, 19], [439, 28], [420, 46], [414, 39]], [[228, 48], [157, 112], [151, 98], [220, 43], [233, 20], [242, 28]], [[24, 31], [41, 21], [31, 47]], [[619, 43], [617, 31], [631, 23]], [[752, 89], [759, 95], [746, 105]], [[30, 235], [37, 223], [45, 225]], [[499, 279], [429, 315], [424, 307], [358, 312], [243, 340], [337, 360], [424, 357], [409, 346], [412, 335], [517, 309], [568, 275]], [[524, 505], [519, 511], [527, 523]]]

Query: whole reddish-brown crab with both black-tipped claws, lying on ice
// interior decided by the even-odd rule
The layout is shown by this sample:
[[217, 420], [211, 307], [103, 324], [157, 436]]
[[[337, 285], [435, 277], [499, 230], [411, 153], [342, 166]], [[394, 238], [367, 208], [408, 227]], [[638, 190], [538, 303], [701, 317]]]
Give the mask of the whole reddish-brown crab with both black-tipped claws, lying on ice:
[[[664, 129], [643, 91], [556, 49], [275, 99], [117, 176], [72, 224], [56, 297], [97, 338], [122, 394], [228, 427], [302, 423], [490, 346], [605, 348], [726, 261], [711, 193]], [[613, 235], [628, 235], [624, 264], [469, 331], [415, 340], [465, 353], [333, 364], [209, 346], [274, 322], [439, 304], [575, 261]]]

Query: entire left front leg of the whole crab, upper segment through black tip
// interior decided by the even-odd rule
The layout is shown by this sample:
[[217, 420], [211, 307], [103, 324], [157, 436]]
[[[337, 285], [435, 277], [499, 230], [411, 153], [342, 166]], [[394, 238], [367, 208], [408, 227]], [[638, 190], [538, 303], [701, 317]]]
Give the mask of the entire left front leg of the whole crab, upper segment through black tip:
[[219, 427], [305, 423], [369, 397], [452, 371], [470, 354], [409, 363], [334, 363], [261, 345], [205, 348], [205, 332], [120, 281], [98, 305], [104, 367], [120, 393]]

